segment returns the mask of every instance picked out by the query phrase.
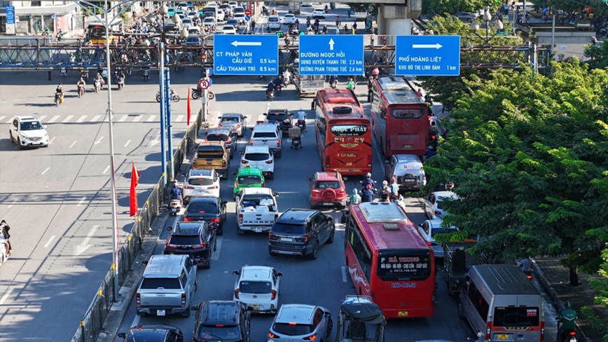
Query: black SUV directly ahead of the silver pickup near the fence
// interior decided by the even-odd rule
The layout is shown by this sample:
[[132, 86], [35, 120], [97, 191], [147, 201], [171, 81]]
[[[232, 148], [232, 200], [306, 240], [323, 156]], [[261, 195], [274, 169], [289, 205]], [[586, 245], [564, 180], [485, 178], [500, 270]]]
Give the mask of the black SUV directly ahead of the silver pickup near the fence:
[[163, 254], [188, 254], [193, 263], [211, 267], [211, 257], [216, 249], [216, 228], [207, 222], [177, 222], [165, 242]]

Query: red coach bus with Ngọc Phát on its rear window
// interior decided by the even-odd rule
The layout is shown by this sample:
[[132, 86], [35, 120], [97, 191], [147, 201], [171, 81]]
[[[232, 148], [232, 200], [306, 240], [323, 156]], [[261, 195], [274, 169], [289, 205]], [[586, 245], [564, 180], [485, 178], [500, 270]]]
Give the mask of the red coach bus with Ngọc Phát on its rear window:
[[352, 90], [324, 89], [312, 101], [317, 147], [325, 171], [342, 175], [371, 172], [369, 119]]

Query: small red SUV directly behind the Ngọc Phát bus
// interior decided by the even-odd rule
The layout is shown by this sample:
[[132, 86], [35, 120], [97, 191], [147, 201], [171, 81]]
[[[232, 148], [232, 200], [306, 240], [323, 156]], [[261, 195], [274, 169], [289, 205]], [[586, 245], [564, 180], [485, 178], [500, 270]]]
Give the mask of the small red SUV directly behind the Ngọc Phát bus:
[[348, 196], [340, 172], [315, 172], [310, 179], [310, 207], [346, 207]]

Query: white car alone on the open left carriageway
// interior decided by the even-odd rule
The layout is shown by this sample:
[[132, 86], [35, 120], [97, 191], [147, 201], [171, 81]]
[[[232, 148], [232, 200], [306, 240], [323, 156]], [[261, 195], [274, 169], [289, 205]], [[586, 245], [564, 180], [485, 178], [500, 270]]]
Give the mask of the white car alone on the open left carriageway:
[[42, 125], [33, 116], [15, 116], [8, 131], [11, 142], [17, 144], [19, 149], [24, 147], [48, 147], [48, 132], [46, 125]]

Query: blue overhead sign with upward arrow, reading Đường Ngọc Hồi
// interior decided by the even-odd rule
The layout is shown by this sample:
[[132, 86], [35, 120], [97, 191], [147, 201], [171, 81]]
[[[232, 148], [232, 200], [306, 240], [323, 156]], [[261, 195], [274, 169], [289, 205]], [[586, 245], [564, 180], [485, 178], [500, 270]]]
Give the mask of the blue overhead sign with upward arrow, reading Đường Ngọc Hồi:
[[300, 36], [300, 75], [363, 75], [363, 36]]

